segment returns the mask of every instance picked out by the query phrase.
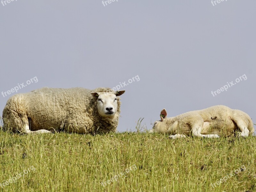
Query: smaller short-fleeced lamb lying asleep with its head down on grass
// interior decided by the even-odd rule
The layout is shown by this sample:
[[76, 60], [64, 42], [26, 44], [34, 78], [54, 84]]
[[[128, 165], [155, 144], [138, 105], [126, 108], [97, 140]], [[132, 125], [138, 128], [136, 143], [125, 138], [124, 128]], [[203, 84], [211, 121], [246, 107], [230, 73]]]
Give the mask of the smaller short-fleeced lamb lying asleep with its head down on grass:
[[254, 132], [252, 119], [243, 111], [217, 105], [202, 110], [190, 111], [176, 117], [167, 118], [167, 111], [160, 113], [150, 132], [168, 133], [172, 139], [189, 135], [204, 138], [231, 136], [247, 137]]

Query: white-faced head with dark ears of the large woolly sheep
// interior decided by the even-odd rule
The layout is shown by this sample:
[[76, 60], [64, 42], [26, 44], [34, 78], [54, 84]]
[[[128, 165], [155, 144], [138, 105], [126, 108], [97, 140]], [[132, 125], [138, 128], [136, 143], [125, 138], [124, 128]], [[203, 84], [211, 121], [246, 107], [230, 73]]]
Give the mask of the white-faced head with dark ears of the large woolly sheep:
[[98, 113], [102, 117], [113, 117], [116, 114], [117, 96], [124, 94], [123, 91], [116, 92], [92, 92], [92, 96], [97, 98]]

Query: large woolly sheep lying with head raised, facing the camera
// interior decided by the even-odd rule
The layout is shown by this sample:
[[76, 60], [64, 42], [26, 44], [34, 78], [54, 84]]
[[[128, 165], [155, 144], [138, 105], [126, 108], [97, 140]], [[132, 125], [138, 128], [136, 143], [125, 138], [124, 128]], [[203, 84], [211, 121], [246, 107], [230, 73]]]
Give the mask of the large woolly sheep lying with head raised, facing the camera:
[[100, 87], [44, 87], [12, 96], [3, 111], [4, 130], [20, 133], [115, 132], [123, 91]]

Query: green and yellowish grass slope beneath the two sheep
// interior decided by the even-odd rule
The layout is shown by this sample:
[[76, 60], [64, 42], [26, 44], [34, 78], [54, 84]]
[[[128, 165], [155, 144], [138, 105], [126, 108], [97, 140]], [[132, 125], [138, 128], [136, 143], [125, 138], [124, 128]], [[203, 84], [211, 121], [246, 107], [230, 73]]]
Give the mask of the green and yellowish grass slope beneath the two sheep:
[[[22, 174], [0, 189], [256, 191], [255, 149], [252, 136], [171, 140], [148, 132], [92, 136], [0, 131], [0, 183]], [[212, 188], [230, 173], [226, 182]]]

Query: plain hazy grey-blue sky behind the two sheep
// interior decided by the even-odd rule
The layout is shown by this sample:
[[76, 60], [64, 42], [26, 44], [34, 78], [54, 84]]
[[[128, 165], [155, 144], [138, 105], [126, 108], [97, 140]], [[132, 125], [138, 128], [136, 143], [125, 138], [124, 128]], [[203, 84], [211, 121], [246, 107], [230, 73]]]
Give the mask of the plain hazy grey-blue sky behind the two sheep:
[[256, 122], [256, 1], [8, 2], [0, 4], [0, 92], [10, 90], [0, 95], [1, 116], [15, 86], [112, 88], [137, 76], [122, 88], [118, 131], [134, 131], [140, 117], [151, 129], [163, 108], [171, 117], [218, 104]]

